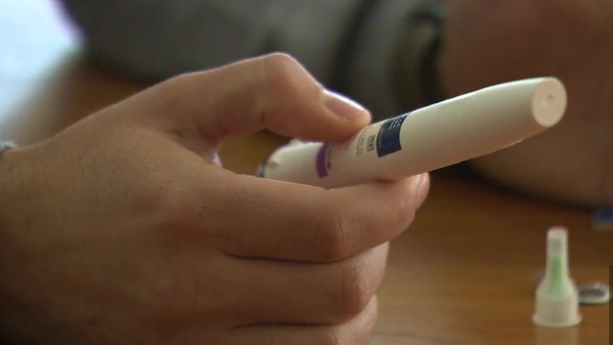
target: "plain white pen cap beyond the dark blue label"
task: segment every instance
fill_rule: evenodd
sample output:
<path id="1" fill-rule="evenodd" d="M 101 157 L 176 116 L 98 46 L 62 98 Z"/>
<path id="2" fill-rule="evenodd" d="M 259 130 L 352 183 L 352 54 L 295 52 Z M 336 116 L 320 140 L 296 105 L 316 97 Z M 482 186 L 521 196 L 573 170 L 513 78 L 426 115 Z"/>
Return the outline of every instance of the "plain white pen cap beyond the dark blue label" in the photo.
<path id="1" fill-rule="evenodd" d="M 565 87 L 551 77 L 457 96 L 406 118 L 401 133 L 405 157 L 397 155 L 396 164 L 412 175 L 487 155 L 556 125 L 565 110 Z"/>

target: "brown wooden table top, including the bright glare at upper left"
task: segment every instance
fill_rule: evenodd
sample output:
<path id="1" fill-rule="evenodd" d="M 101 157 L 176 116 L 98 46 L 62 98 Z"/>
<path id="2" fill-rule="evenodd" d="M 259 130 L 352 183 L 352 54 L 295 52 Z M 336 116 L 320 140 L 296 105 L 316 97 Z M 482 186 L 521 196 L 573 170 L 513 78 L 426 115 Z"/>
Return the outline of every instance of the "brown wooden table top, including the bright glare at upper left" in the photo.
<path id="1" fill-rule="evenodd" d="M 58 16 L 50 1 L 0 0 L 2 139 L 41 141 L 146 86 L 89 63 Z M 267 133 L 233 138 L 221 157 L 252 174 L 282 143 Z M 371 344 L 606 344 L 608 305 L 582 306 L 578 327 L 531 323 L 550 226 L 569 228 L 577 283 L 608 281 L 613 232 L 593 231 L 591 220 L 590 211 L 433 174 L 413 225 L 392 242 Z"/>

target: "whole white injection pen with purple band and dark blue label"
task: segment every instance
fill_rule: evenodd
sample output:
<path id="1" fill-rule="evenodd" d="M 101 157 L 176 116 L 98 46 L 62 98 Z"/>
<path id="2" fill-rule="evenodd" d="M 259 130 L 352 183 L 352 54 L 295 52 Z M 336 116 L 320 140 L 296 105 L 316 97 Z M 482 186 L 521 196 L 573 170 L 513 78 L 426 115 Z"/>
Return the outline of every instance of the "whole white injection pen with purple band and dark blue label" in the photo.
<path id="1" fill-rule="evenodd" d="M 345 142 L 281 147 L 258 176 L 323 188 L 403 179 L 534 136 L 565 110 L 558 79 L 501 83 L 373 123 Z"/>

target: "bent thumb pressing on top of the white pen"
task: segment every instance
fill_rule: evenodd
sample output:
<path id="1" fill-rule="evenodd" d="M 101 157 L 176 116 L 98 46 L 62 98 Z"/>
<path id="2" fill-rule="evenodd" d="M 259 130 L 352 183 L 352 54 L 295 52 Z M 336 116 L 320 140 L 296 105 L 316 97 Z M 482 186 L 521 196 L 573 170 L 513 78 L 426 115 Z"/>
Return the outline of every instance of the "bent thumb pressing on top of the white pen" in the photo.
<path id="1" fill-rule="evenodd" d="M 275 53 L 185 74 L 145 91 L 144 104 L 172 133 L 199 133 L 213 144 L 267 129 L 313 141 L 340 141 L 368 125 L 370 114 L 325 90 L 297 61 Z M 194 126 L 197 131 L 194 131 Z"/>

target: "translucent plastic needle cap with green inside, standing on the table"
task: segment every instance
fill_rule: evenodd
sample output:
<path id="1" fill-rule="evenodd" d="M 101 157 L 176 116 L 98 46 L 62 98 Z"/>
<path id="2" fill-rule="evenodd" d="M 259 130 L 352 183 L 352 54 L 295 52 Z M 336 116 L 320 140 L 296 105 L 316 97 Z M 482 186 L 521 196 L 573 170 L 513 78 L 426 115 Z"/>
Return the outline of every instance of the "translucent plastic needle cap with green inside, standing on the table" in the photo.
<path id="1" fill-rule="evenodd" d="M 568 231 L 552 227 L 547 231 L 547 267 L 536 289 L 535 324 L 569 327 L 581 322 L 579 294 L 568 270 Z"/>

